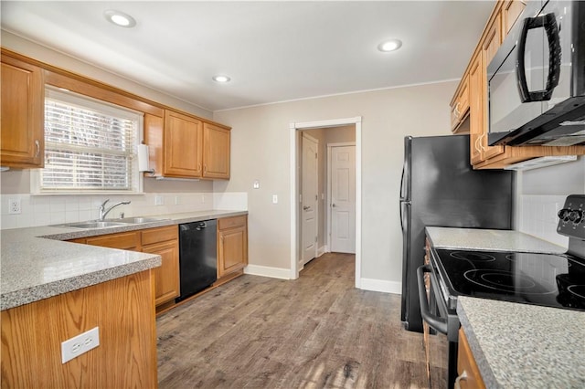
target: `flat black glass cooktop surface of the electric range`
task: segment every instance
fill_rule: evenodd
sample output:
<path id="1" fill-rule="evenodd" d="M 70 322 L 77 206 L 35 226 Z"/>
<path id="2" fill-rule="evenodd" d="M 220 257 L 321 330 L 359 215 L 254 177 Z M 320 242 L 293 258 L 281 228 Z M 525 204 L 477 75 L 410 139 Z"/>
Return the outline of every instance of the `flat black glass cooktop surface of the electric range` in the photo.
<path id="1" fill-rule="evenodd" d="M 585 260 L 566 254 L 436 250 L 447 292 L 585 310 Z"/>

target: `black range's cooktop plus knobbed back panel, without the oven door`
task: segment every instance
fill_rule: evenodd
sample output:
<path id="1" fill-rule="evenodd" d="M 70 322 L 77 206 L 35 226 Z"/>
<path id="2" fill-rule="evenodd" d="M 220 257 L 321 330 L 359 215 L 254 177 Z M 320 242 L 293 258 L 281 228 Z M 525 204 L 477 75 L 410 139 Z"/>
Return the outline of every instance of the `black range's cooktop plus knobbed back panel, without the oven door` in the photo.
<path id="1" fill-rule="evenodd" d="M 434 250 L 447 309 L 471 296 L 585 310 L 585 195 L 569 195 L 558 216 L 558 233 L 569 237 L 563 254 Z"/>

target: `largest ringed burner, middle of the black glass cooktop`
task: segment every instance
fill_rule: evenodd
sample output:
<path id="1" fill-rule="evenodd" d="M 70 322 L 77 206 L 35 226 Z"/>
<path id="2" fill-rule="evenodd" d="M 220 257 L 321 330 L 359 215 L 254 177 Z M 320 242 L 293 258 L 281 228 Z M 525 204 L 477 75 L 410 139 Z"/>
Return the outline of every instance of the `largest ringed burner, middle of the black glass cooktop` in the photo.
<path id="1" fill-rule="evenodd" d="M 538 288 L 536 282 L 526 276 L 514 274 L 505 270 L 473 269 L 467 270 L 463 276 L 465 279 L 484 288 L 502 290 L 506 292 L 519 292 L 524 294 L 546 294 L 556 291 L 547 291 Z"/>

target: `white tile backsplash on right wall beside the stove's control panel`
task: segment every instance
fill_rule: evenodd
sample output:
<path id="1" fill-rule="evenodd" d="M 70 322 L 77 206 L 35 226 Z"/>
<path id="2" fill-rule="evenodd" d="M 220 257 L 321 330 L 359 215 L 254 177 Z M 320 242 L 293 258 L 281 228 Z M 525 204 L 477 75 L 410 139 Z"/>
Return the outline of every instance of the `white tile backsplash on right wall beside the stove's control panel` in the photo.
<path id="1" fill-rule="evenodd" d="M 558 211 L 567 195 L 520 195 L 517 212 L 518 230 L 558 246 L 569 247 L 569 237 L 557 233 Z"/>

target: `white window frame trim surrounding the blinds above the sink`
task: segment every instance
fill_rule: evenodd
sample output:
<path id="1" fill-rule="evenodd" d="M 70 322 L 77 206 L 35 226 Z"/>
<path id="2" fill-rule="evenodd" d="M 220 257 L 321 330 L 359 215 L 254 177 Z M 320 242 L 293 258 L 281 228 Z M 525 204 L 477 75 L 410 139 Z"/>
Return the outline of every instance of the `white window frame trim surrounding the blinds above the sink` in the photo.
<path id="1" fill-rule="evenodd" d="M 107 115 L 115 115 L 124 119 L 136 121 L 134 143 L 132 147 L 132 187 L 129 189 L 86 189 L 86 188 L 68 188 L 53 189 L 42 186 L 42 169 L 32 169 L 30 174 L 31 195 L 143 195 L 144 194 L 144 173 L 138 170 L 138 145 L 144 140 L 144 112 L 132 110 L 109 101 L 98 100 L 80 93 L 71 92 L 68 89 L 52 87 L 45 85 L 45 97 L 43 104 L 47 99 L 55 99 L 87 108 L 96 110 Z M 44 106 L 44 105 L 43 105 Z M 45 109 L 43 108 L 43 114 Z M 47 145 L 45 145 L 47 149 Z"/>

